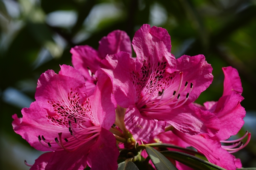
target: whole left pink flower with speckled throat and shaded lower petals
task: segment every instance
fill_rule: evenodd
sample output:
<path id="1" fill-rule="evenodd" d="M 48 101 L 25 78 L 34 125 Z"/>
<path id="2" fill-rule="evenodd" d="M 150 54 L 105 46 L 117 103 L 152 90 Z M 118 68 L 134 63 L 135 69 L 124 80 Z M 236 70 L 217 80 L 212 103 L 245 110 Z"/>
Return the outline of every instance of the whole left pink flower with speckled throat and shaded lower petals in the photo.
<path id="1" fill-rule="evenodd" d="M 105 74 L 90 96 L 84 77 L 71 66 L 59 74 L 48 70 L 38 80 L 36 101 L 14 115 L 13 127 L 35 149 L 44 153 L 36 164 L 46 170 L 117 169 L 119 151 L 108 131 L 115 121 L 116 102 Z M 98 161 L 101 160 L 101 161 Z M 33 168 L 32 168 L 33 169 Z"/>

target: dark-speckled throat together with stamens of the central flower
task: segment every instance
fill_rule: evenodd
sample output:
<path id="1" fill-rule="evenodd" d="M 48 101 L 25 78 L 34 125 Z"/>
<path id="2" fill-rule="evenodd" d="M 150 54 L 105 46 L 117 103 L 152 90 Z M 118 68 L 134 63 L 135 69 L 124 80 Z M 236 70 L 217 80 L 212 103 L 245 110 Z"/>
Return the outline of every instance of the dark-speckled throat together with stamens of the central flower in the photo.
<path id="1" fill-rule="evenodd" d="M 133 72 L 131 79 L 138 96 L 136 107 L 139 111 L 171 111 L 174 108 L 180 107 L 188 100 L 189 94 L 193 89 L 193 83 L 190 83 L 189 92 L 184 92 L 189 82 L 185 81 L 184 88 L 181 89 L 181 84 L 183 84 L 183 72 L 167 73 L 166 63 L 166 61 L 163 61 L 155 64 L 154 62 L 150 62 L 150 58 L 148 58 L 148 60 L 144 60 L 143 66 L 139 72 Z M 174 83 L 174 80 L 178 80 L 174 78 L 178 76 L 177 74 L 180 75 L 178 88 L 173 89 L 172 96 L 167 97 L 168 95 L 164 94 L 166 93 L 164 89 L 168 89 L 171 84 Z M 169 90 L 170 89 L 168 89 L 168 91 Z M 181 94 L 183 97 L 181 97 Z"/>

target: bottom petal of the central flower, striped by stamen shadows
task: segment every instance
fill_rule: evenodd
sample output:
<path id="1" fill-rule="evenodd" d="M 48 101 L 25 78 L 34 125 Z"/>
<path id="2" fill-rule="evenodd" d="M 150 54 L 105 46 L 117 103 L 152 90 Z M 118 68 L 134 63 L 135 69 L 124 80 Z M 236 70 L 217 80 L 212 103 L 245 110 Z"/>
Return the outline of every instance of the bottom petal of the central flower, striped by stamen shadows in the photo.
<path id="1" fill-rule="evenodd" d="M 166 122 L 142 116 L 139 110 L 131 105 L 126 110 L 125 125 L 135 140 L 150 142 L 153 137 L 165 131 Z"/>

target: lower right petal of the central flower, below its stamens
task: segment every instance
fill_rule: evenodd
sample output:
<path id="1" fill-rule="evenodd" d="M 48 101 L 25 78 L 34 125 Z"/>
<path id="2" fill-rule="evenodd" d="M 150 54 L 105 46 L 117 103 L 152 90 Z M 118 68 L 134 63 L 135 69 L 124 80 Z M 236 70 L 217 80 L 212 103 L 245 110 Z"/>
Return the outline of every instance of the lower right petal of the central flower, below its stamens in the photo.
<path id="1" fill-rule="evenodd" d="M 196 135 L 201 133 L 213 136 L 220 126 L 219 119 L 209 111 L 203 111 L 193 104 L 183 105 L 169 112 L 148 113 L 148 117 L 166 121 L 179 131 Z"/>

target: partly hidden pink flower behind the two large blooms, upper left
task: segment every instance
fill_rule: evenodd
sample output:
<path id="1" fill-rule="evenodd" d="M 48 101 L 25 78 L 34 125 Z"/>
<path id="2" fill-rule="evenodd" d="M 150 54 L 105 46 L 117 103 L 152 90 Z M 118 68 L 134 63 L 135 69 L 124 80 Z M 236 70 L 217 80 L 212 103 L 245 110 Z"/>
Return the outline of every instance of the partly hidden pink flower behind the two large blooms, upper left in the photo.
<path id="1" fill-rule="evenodd" d="M 96 71 L 100 68 L 99 64 L 101 60 L 105 59 L 107 54 L 116 54 L 119 51 L 125 51 L 132 56 L 131 40 L 121 30 L 115 30 L 103 37 L 99 41 L 98 51 L 88 45 L 71 48 L 72 64 L 75 69 L 81 72 L 87 81 L 87 93 L 96 86 L 98 80 Z"/>

